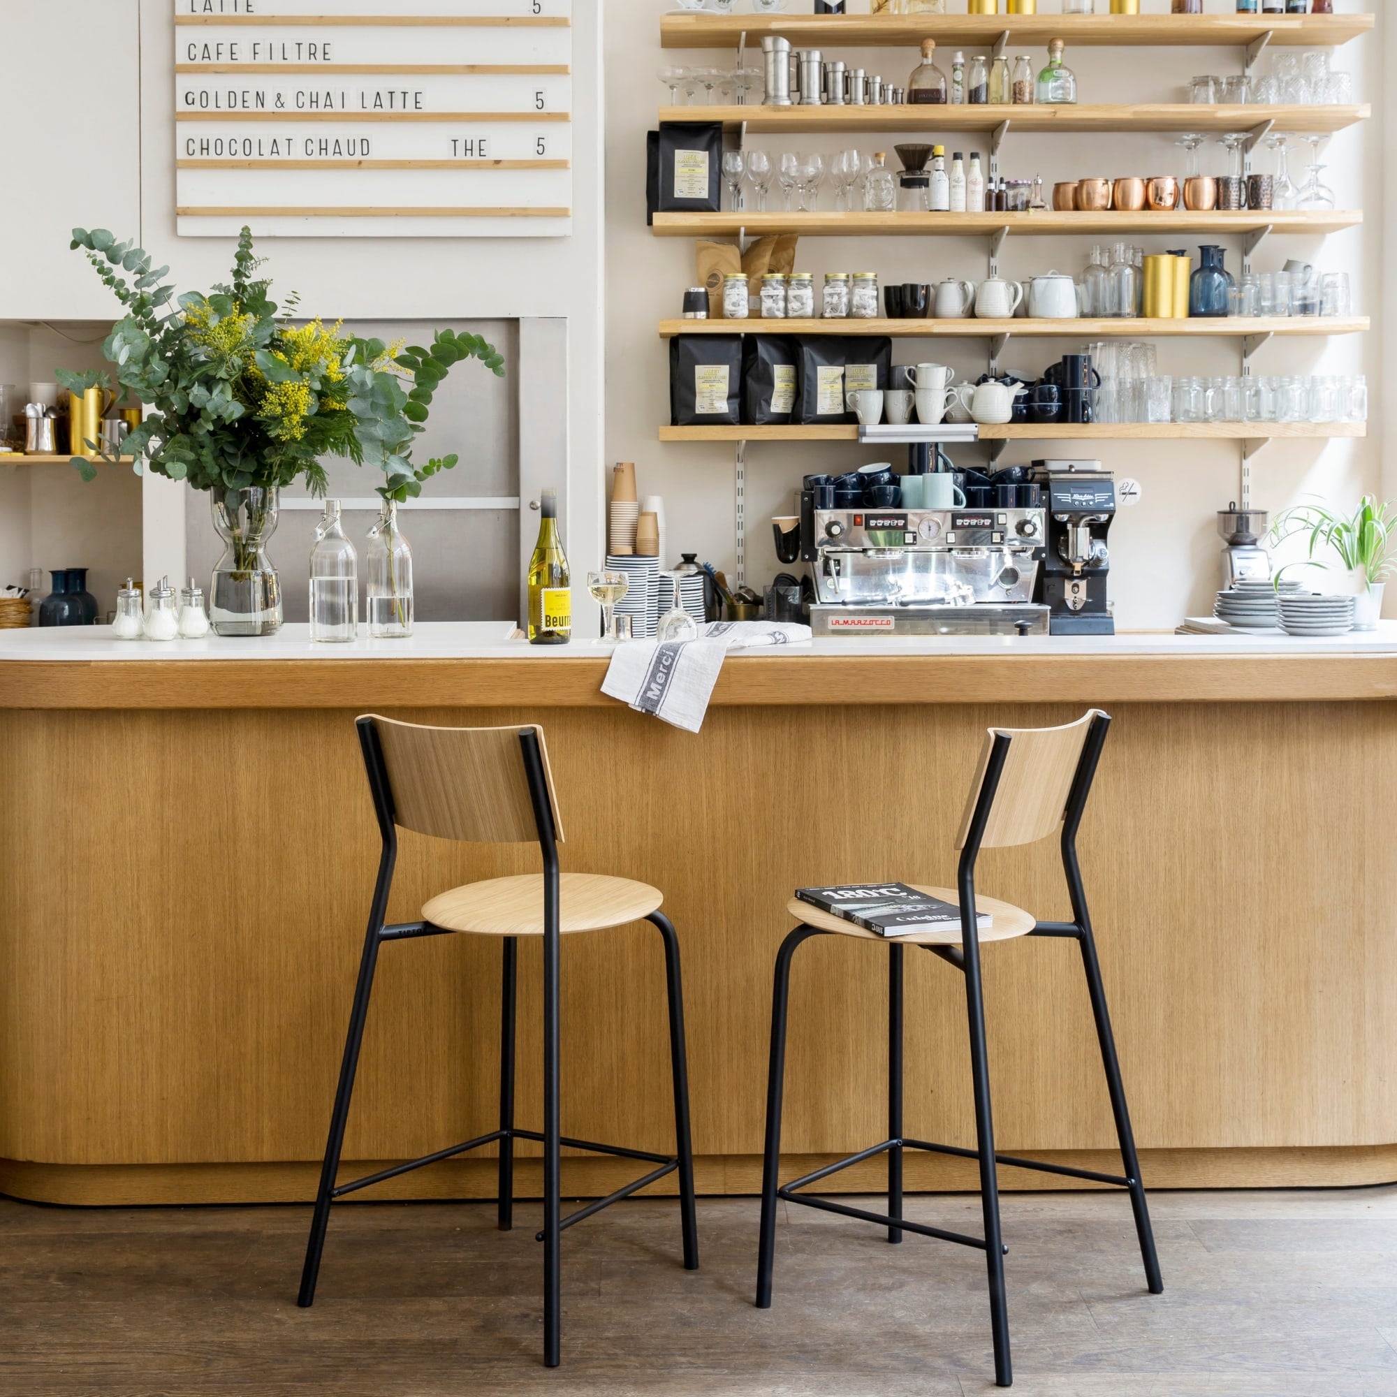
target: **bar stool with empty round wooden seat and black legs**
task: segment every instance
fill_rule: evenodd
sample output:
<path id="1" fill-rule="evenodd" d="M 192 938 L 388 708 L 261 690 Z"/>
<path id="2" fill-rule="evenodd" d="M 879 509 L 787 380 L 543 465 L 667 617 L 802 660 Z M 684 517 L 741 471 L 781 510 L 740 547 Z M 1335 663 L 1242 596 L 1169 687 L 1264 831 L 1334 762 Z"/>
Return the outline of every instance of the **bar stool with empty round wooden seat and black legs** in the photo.
<path id="1" fill-rule="evenodd" d="M 563 840 L 563 828 L 541 728 L 420 728 L 372 715 L 359 718 L 358 728 L 369 773 L 369 789 L 379 816 L 383 854 L 359 963 L 359 981 L 349 1016 L 339 1085 L 330 1118 L 330 1139 L 326 1144 L 310 1241 L 306 1246 L 299 1303 L 307 1306 L 314 1301 L 330 1204 L 335 1199 L 425 1164 L 499 1143 L 499 1225 L 502 1231 L 507 1231 L 513 1225 L 513 1143 L 534 1140 L 543 1146 L 543 1229 L 538 1234 L 538 1241 L 543 1243 L 543 1362 L 549 1368 L 556 1368 L 560 1361 L 560 1238 L 566 1228 L 678 1171 L 685 1268 L 692 1271 L 698 1266 L 679 942 L 669 919 L 659 911 L 664 898 L 655 888 L 623 877 L 559 872 L 557 844 Z M 422 908 L 422 921 L 388 926 L 386 916 L 398 852 L 398 827 L 472 844 L 536 841 L 543 855 L 543 872 L 468 883 L 432 898 Z M 665 943 L 669 1052 L 675 1094 L 673 1155 L 594 1144 L 560 1134 L 560 937 L 641 919 L 654 923 Z M 339 1151 L 344 1146 L 345 1122 L 349 1116 L 349 1098 L 353 1092 L 379 947 L 386 942 L 453 932 L 495 936 L 503 946 L 499 1129 L 367 1178 L 337 1183 Z M 521 1130 L 514 1125 L 514 1000 L 517 946 L 521 936 L 536 936 L 543 942 L 542 1132 Z M 633 1183 L 563 1218 L 559 1204 L 562 1146 L 640 1160 L 654 1168 Z"/>

